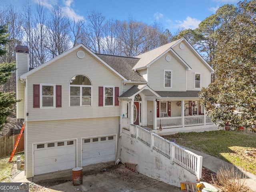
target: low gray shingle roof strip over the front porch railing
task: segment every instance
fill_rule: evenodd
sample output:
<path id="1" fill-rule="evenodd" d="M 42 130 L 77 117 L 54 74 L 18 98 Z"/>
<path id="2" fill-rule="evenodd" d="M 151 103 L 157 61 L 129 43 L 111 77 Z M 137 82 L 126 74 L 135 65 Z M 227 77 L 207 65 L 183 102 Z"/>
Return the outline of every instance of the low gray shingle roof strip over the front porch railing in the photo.
<path id="1" fill-rule="evenodd" d="M 156 91 L 161 97 L 198 98 L 199 91 Z"/>

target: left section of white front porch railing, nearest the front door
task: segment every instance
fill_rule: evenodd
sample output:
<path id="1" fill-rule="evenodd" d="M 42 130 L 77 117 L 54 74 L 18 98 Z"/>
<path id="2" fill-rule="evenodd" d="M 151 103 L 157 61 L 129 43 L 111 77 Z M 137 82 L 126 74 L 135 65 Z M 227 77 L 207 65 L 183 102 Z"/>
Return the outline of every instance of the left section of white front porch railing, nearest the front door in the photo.
<path id="1" fill-rule="evenodd" d="M 182 117 L 161 117 L 156 119 L 156 126 L 164 128 L 182 127 Z"/>

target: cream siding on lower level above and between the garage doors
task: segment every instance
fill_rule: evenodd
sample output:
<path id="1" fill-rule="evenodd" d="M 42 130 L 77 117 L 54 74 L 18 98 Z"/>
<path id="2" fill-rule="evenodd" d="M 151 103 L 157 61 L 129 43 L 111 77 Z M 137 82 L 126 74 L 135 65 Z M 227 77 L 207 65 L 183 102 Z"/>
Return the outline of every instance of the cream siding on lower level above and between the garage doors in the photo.
<path id="1" fill-rule="evenodd" d="M 34 144 L 77 140 L 76 166 L 82 166 L 82 138 L 118 135 L 120 117 L 27 122 L 27 177 L 32 177 Z M 72 130 L 72 131 L 71 131 Z"/>

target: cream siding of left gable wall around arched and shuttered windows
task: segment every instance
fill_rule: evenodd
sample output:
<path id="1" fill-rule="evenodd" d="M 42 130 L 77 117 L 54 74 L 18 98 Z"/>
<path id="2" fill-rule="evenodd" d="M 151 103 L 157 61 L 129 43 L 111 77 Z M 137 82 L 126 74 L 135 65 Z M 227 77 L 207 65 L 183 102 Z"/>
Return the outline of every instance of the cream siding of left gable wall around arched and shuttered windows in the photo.
<path id="1" fill-rule="evenodd" d="M 83 59 L 78 58 L 76 52 L 71 52 L 28 76 L 28 101 L 33 101 L 33 84 L 48 83 L 62 86 L 62 107 L 40 110 L 33 108 L 33 102 L 28 102 L 28 121 L 120 116 L 119 106 L 106 108 L 98 106 L 98 87 L 108 85 L 119 87 L 119 95 L 121 95 L 122 80 L 86 52 Z M 91 106 L 69 107 L 69 83 L 77 74 L 87 76 L 92 82 Z"/>

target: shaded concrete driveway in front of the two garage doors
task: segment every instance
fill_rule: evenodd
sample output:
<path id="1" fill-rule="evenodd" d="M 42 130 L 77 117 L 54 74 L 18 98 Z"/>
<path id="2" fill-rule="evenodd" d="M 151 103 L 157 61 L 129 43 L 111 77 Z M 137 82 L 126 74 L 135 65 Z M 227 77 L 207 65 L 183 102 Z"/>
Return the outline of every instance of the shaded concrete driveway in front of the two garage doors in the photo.
<path id="1" fill-rule="evenodd" d="M 47 188 L 45 192 L 180 192 L 175 187 L 152 178 L 136 174 L 123 166 L 100 164 L 83 168 L 82 184 L 74 186 L 72 170 L 44 174 L 28 179 Z"/>

